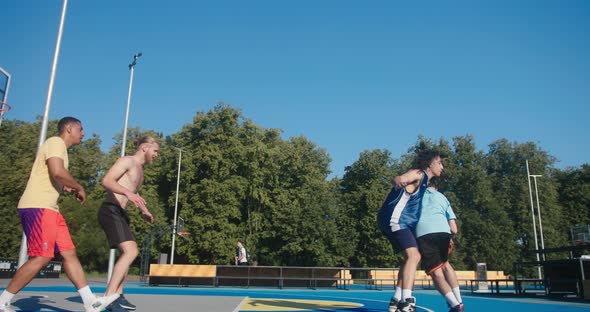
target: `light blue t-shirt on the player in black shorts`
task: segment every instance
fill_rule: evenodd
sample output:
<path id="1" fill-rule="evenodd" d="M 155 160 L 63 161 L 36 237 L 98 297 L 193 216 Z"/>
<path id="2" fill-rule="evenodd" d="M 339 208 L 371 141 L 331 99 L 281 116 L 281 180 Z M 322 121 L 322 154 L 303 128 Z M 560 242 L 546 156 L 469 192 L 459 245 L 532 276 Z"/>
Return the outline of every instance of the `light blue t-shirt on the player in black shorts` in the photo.
<path id="1" fill-rule="evenodd" d="M 451 203 L 440 192 L 428 188 L 422 198 L 422 214 L 416 225 L 416 237 L 430 233 L 451 233 L 449 220 L 457 219 Z"/>

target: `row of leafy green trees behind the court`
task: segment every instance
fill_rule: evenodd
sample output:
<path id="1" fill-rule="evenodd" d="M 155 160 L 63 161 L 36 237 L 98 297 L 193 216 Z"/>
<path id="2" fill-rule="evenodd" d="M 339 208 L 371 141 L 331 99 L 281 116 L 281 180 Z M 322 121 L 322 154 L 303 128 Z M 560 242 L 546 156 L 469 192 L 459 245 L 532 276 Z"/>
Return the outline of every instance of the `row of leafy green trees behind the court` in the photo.
<path id="1" fill-rule="evenodd" d="M 40 124 L 4 120 L 0 129 L 0 258 L 18 257 L 22 230 L 16 206 Z M 56 124 L 50 122 L 49 135 L 57 134 Z M 138 209 L 130 209 L 140 245 L 154 227 L 172 224 L 178 169 L 173 147 L 186 151 L 178 214 L 190 235 L 176 239 L 177 264 L 231 264 L 241 239 L 259 265 L 396 267 L 401 257 L 377 229 L 376 214 L 392 177 L 409 169 L 423 148 L 447 155 L 440 190 L 459 217 L 451 255 L 457 269 L 473 270 L 485 262 L 490 270 L 510 272 L 513 262 L 533 259 L 521 253 L 534 249 L 526 160 L 531 172 L 543 176 L 538 194 L 545 247 L 570 245 L 571 227 L 590 224 L 590 166 L 558 169 L 555 157 L 532 142 L 498 139 L 481 151 L 470 135 L 451 140 L 418 136 L 400 158 L 385 149 L 362 151 L 342 177 L 330 179 L 328 151 L 304 136 L 284 139 L 279 129 L 260 127 L 223 103 L 197 112 L 192 123 L 165 138 L 140 128 L 129 129 L 128 135 L 127 154 L 144 135 L 162 141 L 140 189 L 155 224 L 145 224 Z M 105 153 L 100 137 L 93 135 L 70 150 L 70 172 L 86 188 L 88 200 L 80 206 L 62 196 L 60 210 L 86 270 L 107 268 L 109 247 L 96 216 L 105 195 L 99 182 L 120 155 L 121 140 L 116 137 Z M 151 246 L 154 262 L 159 253 L 170 252 L 171 236 Z"/>

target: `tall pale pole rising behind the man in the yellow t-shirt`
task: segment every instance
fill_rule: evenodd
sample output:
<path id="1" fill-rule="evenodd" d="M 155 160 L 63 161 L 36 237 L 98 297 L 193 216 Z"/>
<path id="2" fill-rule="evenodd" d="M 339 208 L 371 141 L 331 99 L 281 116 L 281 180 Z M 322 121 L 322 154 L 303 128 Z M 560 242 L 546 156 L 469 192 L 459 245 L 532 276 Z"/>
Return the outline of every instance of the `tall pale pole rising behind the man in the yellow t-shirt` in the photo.
<path id="1" fill-rule="evenodd" d="M 41 148 L 45 137 L 47 136 L 47 124 L 49 123 L 49 108 L 51 107 L 51 98 L 53 96 L 53 82 L 55 81 L 55 72 L 57 71 L 57 60 L 59 59 L 59 49 L 61 47 L 61 36 L 64 29 L 64 22 L 66 19 L 66 10 L 68 8 L 68 0 L 63 0 L 61 8 L 61 18 L 59 20 L 59 30 L 57 31 L 57 41 L 55 42 L 55 51 L 53 53 L 53 65 L 51 66 L 51 74 L 49 76 L 49 88 L 47 90 L 47 97 L 45 99 L 45 112 L 43 113 L 43 122 L 41 123 L 41 133 L 39 134 L 39 144 L 37 149 Z M 18 267 L 20 268 L 27 262 L 27 236 L 23 232 L 23 237 L 20 245 L 20 252 L 18 255 Z"/>

